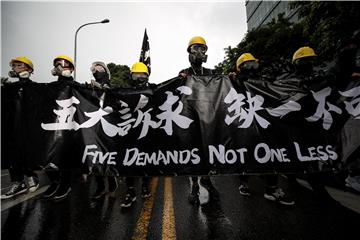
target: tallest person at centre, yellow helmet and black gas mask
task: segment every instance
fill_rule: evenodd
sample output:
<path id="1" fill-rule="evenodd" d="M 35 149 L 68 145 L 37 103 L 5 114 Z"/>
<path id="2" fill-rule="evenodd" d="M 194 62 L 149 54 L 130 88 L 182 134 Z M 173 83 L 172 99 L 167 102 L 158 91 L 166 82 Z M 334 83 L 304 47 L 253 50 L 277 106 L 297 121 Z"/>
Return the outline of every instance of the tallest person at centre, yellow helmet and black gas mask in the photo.
<path id="1" fill-rule="evenodd" d="M 195 36 L 190 39 L 187 52 L 189 53 L 189 62 L 190 67 L 183 69 L 179 72 L 179 76 L 182 78 L 186 78 L 187 76 L 192 75 L 211 75 L 213 74 L 213 70 L 204 68 L 202 66 L 203 63 L 207 60 L 207 51 L 208 47 L 206 45 L 206 41 L 203 37 Z M 210 177 L 201 177 L 200 183 L 205 188 L 212 187 L 212 183 Z M 188 200 L 191 204 L 199 204 L 199 178 L 198 177 L 190 177 L 191 191 L 188 196 Z"/>

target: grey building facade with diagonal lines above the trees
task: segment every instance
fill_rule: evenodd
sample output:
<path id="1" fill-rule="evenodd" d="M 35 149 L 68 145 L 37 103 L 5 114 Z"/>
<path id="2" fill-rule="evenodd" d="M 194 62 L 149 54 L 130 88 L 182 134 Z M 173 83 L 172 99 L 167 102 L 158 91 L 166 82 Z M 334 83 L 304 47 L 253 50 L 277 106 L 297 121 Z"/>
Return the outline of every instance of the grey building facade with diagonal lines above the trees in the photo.
<path id="1" fill-rule="evenodd" d="M 248 30 L 256 29 L 283 13 L 290 22 L 297 22 L 297 9 L 290 9 L 289 1 L 250 1 L 246 0 L 246 20 Z"/>

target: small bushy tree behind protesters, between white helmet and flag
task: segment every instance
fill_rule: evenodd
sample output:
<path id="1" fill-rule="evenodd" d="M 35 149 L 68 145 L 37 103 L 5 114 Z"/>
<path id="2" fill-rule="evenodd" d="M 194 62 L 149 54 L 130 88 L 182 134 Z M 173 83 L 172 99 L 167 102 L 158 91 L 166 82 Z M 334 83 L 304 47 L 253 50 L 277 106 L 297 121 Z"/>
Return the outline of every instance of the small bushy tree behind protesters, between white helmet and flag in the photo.
<path id="1" fill-rule="evenodd" d="M 129 87 L 130 68 L 127 65 L 107 64 L 111 73 L 110 83 L 113 87 Z"/>

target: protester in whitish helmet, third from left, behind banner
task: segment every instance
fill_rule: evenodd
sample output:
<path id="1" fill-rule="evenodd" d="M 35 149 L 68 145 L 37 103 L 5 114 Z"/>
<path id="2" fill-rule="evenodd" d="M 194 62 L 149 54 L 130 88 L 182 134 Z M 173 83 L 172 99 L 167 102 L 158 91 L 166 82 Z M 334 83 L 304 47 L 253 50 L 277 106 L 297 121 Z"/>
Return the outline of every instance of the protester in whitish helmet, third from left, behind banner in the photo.
<path id="1" fill-rule="evenodd" d="M 91 85 L 98 89 L 109 89 L 111 87 L 110 84 L 110 70 L 106 66 L 104 62 L 93 62 L 90 68 L 95 80 L 91 80 Z M 101 96 L 102 97 L 102 96 Z M 91 173 L 91 169 L 88 173 Z M 105 180 L 107 180 L 108 185 L 108 193 L 115 193 L 118 188 L 117 178 L 115 176 L 96 176 L 96 190 L 94 195 L 92 196 L 94 199 L 101 198 L 104 196 L 107 191 L 105 188 Z"/>

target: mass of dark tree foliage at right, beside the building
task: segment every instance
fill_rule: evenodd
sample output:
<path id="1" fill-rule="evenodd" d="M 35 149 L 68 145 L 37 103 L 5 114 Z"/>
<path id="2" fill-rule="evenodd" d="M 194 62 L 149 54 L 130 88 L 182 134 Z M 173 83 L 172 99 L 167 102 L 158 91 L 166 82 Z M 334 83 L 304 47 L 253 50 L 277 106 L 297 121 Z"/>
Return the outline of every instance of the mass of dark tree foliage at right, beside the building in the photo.
<path id="1" fill-rule="evenodd" d="M 319 59 L 334 58 L 338 41 L 350 37 L 360 28 L 360 2 L 291 2 L 301 20 L 290 23 L 283 17 L 248 31 L 235 47 L 225 48 L 225 60 L 215 66 L 225 74 L 235 70 L 237 58 L 245 52 L 260 59 L 260 65 L 281 71 L 289 66 L 293 53 L 302 46 L 314 48 Z M 284 66 L 285 63 L 285 66 Z M 275 67 L 274 67 L 275 66 Z"/>

